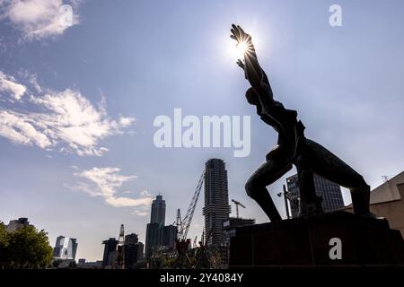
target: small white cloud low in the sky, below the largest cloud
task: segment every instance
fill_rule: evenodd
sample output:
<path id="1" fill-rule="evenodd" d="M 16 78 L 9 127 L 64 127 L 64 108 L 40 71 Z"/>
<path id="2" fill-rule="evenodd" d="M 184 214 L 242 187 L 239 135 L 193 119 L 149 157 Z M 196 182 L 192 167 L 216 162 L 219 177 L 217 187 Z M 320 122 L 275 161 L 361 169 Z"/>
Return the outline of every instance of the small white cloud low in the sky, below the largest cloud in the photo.
<path id="1" fill-rule="evenodd" d="M 91 184 L 80 182 L 75 190 L 83 191 L 90 196 L 102 196 L 106 204 L 110 204 L 114 207 L 145 207 L 152 204 L 153 198 L 141 193 L 140 198 L 131 198 L 127 196 L 117 196 L 119 192 L 117 189 L 123 185 L 123 183 L 136 178 L 136 176 L 124 176 L 119 174 L 118 168 L 92 168 L 91 170 L 83 170 L 75 173 L 75 176 L 85 178 L 91 182 Z M 142 211 L 135 211 L 137 215 L 144 215 Z"/>

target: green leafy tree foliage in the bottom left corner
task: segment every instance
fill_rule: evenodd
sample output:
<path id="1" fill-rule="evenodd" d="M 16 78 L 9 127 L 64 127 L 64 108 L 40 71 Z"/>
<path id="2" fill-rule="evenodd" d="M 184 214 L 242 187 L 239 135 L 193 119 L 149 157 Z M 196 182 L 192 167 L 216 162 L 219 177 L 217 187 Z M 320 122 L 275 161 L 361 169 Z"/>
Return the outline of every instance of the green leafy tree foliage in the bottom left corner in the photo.
<path id="1" fill-rule="evenodd" d="M 0 223 L 0 268 L 45 268 L 52 260 L 48 234 L 34 226 L 7 232 Z"/>

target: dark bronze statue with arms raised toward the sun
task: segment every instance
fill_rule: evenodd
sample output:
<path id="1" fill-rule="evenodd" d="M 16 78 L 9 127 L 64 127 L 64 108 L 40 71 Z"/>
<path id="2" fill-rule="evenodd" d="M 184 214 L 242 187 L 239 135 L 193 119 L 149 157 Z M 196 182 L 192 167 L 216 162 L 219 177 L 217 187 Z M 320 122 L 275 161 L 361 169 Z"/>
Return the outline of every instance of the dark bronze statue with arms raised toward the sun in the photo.
<path id="1" fill-rule="evenodd" d="M 268 76 L 259 66 L 250 35 L 240 26 L 233 24 L 232 27 L 230 37 L 237 41 L 237 45 L 247 45 L 244 62 L 241 59 L 237 61 L 251 85 L 246 91 L 247 101 L 256 106 L 259 117 L 278 134 L 277 146 L 247 181 L 247 194 L 267 213 L 271 222 L 280 221 L 281 216 L 267 187 L 291 170 L 294 164 L 299 178 L 301 216 L 323 213 L 321 198 L 314 189 L 313 173 L 349 188 L 354 213 L 373 216 L 369 212 L 370 187 L 364 178 L 321 144 L 305 138 L 304 126 L 297 120 L 297 112 L 285 109 L 282 103 L 274 100 Z"/>

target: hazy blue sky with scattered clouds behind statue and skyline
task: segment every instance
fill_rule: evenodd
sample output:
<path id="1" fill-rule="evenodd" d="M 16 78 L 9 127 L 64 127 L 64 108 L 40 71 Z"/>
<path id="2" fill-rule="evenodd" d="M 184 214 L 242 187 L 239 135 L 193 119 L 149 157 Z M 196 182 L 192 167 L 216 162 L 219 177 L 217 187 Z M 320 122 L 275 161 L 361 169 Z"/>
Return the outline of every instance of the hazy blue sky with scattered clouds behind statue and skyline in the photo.
<path id="1" fill-rule="evenodd" d="M 73 25 L 57 26 L 60 5 Z M 329 26 L 329 6 L 342 26 Z M 28 217 L 102 256 L 119 224 L 145 241 L 151 196 L 166 223 L 185 214 L 204 162 L 224 159 L 242 216 L 267 219 L 244 183 L 276 143 L 244 98 L 228 51 L 231 24 L 250 32 L 277 100 L 306 135 L 372 187 L 403 170 L 404 27 L 400 1 L 0 1 L 0 220 Z M 232 148 L 157 149 L 154 118 L 251 116 L 250 156 Z M 290 176 L 294 170 L 285 176 Z M 284 213 L 285 177 L 271 195 Z M 349 196 L 345 195 L 346 203 Z M 190 237 L 200 236 L 201 203 Z M 234 210 L 234 207 L 233 207 Z"/>

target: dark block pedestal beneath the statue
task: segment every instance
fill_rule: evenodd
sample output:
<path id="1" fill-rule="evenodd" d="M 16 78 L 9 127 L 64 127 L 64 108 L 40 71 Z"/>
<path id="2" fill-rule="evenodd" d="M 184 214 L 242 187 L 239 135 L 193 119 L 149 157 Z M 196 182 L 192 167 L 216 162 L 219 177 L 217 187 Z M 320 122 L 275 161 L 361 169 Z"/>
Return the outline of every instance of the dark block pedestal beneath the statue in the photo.
<path id="1" fill-rule="evenodd" d="M 230 268 L 404 265 L 404 240 L 385 219 L 346 212 L 237 228 Z"/>

